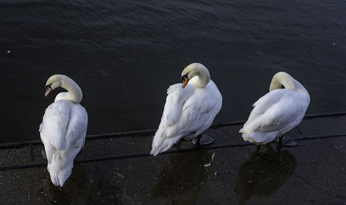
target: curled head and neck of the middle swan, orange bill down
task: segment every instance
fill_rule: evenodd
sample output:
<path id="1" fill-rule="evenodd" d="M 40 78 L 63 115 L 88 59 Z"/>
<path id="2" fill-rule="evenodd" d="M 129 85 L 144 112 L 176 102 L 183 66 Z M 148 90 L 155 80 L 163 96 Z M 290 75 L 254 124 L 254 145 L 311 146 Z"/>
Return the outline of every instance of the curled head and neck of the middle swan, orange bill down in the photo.
<path id="1" fill-rule="evenodd" d="M 192 63 L 183 70 L 181 73 L 181 80 L 183 80 L 183 88 L 188 84 L 188 82 L 198 76 L 199 79 L 193 82 L 195 87 L 206 87 L 210 81 L 210 74 L 206 66 L 198 62 Z"/>

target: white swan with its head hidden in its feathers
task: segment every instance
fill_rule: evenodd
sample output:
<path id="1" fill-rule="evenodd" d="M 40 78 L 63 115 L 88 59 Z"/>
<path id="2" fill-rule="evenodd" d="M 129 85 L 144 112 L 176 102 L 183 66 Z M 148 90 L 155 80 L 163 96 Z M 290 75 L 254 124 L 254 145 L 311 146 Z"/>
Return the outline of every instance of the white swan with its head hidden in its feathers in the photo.
<path id="1" fill-rule="evenodd" d="M 285 89 L 281 89 L 282 85 Z M 270 143 L 302 121 L 309 103 L 309 93 L 300 82 L 287 73 L 276 73 L 269 92 L 253 104 L 253 111 L 239 132 L 244 141 Z"/>

